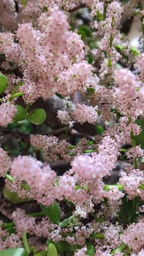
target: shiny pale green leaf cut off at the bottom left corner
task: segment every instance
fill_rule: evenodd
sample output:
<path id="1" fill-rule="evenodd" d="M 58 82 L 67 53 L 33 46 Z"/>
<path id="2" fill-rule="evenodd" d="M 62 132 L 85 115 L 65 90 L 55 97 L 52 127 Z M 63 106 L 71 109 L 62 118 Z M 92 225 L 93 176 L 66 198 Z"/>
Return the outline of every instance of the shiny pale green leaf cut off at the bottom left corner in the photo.
<path id="1" fill-rule="evenodd" d="M 24 248 L 12 248 L 5 249 L 4 251 L 0 251 L 1 256 L 29 256 L 29 253 L 26 252 Z"/>

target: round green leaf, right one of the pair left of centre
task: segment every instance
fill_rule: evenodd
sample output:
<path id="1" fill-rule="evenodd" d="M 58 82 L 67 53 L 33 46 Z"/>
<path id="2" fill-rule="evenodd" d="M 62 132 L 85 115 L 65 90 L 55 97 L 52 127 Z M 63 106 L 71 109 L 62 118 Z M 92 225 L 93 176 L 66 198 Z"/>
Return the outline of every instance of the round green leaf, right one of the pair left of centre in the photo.
<path id="1" fill-rule="evenodd" d="M 47 115 L 43 108 L 37 108 L 28 114 L 28 119 L 32 124 L 43 124 L 46 116 Z"/>

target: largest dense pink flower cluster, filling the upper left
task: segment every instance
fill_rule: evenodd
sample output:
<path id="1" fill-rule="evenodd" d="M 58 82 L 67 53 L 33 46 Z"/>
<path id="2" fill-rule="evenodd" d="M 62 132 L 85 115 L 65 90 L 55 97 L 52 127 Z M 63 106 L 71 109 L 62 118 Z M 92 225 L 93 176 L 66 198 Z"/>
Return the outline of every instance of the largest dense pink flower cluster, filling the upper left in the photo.
<path id="1" fill-rule="evenodd" d="M 31 23 L 18 27 L 21 54 L 26 62 L 25 83 L 20 91 L 26 102 L 34 102 L 38 97 L 47 99 L 55 93 L 73 94 L 92 76 L 91 65 L 84 61 L 83 41 L 69 31 L 64 12 L 53 12 L 46 23 L 43 31 L 34 29 Z"/>

